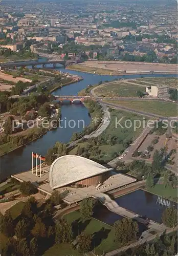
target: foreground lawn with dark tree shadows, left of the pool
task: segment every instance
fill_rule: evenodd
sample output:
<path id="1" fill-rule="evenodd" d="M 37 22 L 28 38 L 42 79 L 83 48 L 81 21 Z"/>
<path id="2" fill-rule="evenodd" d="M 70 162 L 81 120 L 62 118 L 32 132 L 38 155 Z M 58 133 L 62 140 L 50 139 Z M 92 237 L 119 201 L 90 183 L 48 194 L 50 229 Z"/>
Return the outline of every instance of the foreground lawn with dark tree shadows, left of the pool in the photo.
<path id="1" fill-rule="evenodd" d="M 76 230 L 76 236 L 81 231 L 92 234 L 92 248 L 95 254 L 101 255 L 104 252 L 108 252 L 119 248 L 119 244 L 116 243 L 114 236 L 114 229 L 99 220 L 92 218 L 90 221 L 83 222 L 80 219 L 79 211 L 71 212 L 64 216 L 64 219 L 73 225 Z"/>

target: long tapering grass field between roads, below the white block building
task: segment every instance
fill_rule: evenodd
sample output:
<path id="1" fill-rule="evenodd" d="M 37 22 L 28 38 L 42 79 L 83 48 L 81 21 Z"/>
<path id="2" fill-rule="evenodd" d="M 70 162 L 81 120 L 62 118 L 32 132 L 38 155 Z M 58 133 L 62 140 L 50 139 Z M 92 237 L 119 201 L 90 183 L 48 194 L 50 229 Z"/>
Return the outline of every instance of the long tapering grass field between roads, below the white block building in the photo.
<path id="1" fill-rule="evenodd" d="M 177 105 L 171 102 L 161 101 L 112 101 L 107 100 L 105 102 L 111 102 L 117 105 L 126 106 L 127 108 L 140 110 L 147 113 L 153 113 L 165 117 L 171 117 L 177 115 Z"/>

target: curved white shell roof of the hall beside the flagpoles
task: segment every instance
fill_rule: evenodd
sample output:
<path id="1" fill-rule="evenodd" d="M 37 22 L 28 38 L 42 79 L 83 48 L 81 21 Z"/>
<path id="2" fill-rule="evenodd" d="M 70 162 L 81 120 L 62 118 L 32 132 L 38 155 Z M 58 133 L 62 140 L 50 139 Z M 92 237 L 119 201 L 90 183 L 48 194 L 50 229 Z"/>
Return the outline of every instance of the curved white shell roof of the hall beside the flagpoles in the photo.
<path id="1" fill-rule="evenodd" d="M 50 186 L 53 189 L 66 186 L 108 170 L 103 165 L 84 157 L 61 156 L 50 167 Z"/>

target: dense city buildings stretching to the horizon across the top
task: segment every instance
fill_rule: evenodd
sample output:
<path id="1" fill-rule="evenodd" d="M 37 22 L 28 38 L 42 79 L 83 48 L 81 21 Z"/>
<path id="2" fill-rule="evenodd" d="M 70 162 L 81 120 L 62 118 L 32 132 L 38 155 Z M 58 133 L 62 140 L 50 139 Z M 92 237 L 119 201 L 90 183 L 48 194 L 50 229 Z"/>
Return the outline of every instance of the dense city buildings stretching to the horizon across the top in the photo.
<path id="1" fill-rule="evenodd" d="M 28 2 L 19 2 L 20 9 L 10 3 L 2 4 L 2 45 L 7 45 L 7 40 L 10 44 L 37 42 L 36 50 L 62 58 L 63 54 L 79 54 L 85 58 L 176 62 L 175 1 L 135 5 L 34 1 L 30 13 Z"/>

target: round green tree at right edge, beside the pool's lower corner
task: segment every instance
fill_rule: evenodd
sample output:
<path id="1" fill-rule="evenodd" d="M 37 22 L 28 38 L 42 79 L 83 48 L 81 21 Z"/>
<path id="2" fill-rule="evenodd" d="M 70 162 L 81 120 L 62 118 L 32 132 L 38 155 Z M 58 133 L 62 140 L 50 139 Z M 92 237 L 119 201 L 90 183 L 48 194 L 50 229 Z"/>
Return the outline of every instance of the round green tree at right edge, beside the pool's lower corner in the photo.
<path id="1" fill-rule="evenodd" d="M 162 221 L 167 227 L 174 228 L 177 225 L 177 209 L 166 208 L 162 215 Z"/>

